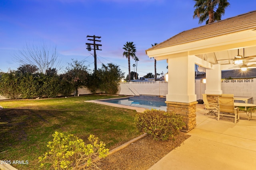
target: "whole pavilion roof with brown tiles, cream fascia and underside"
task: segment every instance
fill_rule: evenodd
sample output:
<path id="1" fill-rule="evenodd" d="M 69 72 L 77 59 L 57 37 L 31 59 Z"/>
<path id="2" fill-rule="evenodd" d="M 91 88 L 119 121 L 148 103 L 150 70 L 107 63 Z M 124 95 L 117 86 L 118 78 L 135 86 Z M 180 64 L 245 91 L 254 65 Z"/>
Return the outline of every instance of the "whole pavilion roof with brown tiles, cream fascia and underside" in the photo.
<path id="1" fill-rule="evenodd" d="M 242 56 L 256 56 L 256 11 L 183 31 L 146 50 L 146 54 L 162 60 L 185 52 L 211 64 L 226 64 L 222 70 L 228 70 L 238 49 Z M 256 58 L 246 60 L 252 62 Z"/>

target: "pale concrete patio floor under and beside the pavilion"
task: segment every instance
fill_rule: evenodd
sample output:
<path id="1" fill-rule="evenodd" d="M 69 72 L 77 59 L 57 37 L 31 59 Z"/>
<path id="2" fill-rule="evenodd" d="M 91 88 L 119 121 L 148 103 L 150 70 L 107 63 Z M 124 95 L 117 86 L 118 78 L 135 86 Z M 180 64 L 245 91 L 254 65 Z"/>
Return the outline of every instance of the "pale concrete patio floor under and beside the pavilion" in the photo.
<path id="1" fill-rule="evenodd" d="M 234 124 L 207 112 L 197 104 L 191 137 L 148 170 L 256 170 L 256 119 L 240 112 Z"/>

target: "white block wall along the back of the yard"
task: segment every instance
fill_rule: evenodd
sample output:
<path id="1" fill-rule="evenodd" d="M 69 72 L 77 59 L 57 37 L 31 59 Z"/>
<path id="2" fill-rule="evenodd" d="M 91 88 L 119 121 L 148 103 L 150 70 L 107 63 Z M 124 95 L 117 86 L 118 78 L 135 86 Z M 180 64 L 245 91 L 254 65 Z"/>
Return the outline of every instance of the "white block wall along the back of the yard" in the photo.
<path id="1" fill-rule="evenodd" d="M 234 96 L 252 96 L 253 100 L 256 100 L 256 78 L 222 80 L 221 88 L 223 94 L 234 94 Z M 204 84 L 202 80 L 195 80 L 195 94 L 197 100 L 202 99 L 202 94 L 204 94 L 205 90 L 206 84 Z M 78 89 L 78 94 L 82 95 L 92 93 L 87 88 L 80 88 Z M 128 96 L 140 94 L 166 96 L 166 94 L 168 94 L 168 82 L 122 82 L 118 87 L 118 94 Z M 0 96 L 0 100 L 5 99 L 8 98 Z M 256 103 L 256 101 L 254 101 L 254 103 Z"/>

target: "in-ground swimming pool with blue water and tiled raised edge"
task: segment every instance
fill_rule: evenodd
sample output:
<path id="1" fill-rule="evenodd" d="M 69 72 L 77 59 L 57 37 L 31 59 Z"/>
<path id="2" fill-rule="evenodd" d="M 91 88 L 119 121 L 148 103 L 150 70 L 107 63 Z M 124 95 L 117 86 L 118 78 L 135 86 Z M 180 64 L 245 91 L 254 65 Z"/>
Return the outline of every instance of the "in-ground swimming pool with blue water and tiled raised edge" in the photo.
<path id="1" fill-rule="evenodd" d="M 143 107 L 146 109 L 160 109 L 166 111 L 166 98 L 158 96 L 130 96 L 127 98 L 116 98 L 101 100 L 102 102 L 109 102 L 114 104 Z"/>

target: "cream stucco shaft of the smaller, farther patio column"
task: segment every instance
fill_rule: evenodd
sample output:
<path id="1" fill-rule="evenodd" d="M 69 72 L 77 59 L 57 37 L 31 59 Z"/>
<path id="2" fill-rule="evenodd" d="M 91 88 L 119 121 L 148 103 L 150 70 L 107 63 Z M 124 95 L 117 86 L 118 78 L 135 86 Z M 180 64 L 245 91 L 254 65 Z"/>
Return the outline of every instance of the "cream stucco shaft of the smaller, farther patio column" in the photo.
<path id="1" fill-rule="evenodd" d="M 220 64 L 214 64 L 213 69 L 206 69 L 205 94 L 222 94 Z"/>

